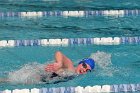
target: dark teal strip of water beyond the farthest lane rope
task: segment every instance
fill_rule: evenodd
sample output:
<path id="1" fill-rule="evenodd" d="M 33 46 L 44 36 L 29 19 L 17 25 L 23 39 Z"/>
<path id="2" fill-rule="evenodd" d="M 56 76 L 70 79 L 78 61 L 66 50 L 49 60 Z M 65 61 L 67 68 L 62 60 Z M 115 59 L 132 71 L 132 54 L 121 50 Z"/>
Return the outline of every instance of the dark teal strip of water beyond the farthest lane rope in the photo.
<path id="1" fill-rule="evenodd" d="M 139 9 L 139 0 L 0 0 L 0 11 Z"/>

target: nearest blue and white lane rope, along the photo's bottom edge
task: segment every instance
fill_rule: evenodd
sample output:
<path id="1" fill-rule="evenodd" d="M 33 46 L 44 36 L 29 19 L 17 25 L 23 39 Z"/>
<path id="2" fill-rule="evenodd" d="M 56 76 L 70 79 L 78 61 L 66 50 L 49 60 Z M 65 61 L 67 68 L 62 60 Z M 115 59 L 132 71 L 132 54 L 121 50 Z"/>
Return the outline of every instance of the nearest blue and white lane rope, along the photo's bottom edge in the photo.
<path id="1" fill-rule="evenodd" d="M 4 90 L 0 93 L 114 93 L 114 92 L 139 92 L 140 84 L 95 85 L 86 87 L 58 87 L 58 88 L 33 88 Z"/>

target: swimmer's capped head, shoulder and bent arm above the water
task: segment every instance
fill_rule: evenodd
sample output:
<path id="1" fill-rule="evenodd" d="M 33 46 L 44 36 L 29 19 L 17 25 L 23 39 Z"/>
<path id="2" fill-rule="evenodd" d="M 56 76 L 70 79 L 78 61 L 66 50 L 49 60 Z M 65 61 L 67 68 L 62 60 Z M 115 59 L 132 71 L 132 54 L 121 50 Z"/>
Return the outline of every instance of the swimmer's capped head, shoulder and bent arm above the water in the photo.
<path id="1" fill-rule="evenodd" d="M 61 75 L 64 70 L 68 70 L 77 74 L 86 74 L 87 72 L 93 70 L 95 67 L 95 62 L 91 58 L 85 58 L 81 60 L 77 67 L 74 67 L 73 62 L 66 57 L 60 51 L 55 53 L 55 62 L 48 64 L 45 67 L 46 72 L 52 72 L 56 75 Z"/>

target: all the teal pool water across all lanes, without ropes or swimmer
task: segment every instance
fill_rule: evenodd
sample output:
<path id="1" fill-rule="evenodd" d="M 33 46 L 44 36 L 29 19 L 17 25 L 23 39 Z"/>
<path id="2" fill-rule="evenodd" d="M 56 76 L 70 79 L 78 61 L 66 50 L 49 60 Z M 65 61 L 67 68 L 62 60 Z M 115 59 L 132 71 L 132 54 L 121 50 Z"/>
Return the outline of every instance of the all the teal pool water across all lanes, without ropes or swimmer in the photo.
<path id="1" fill-rule="evenodd" d="M 131 10 L 139 9 L 139 4 L 138 0 L 0 0 L 0 11 Z M 139 25 L 139 15 L 0 17 L 0 40 L 135 37 L 140 36 Z M 31 64 L 51 63 L 56 51 L 62 51 L 74 62 L 75 66 L 79 60 L 92 57 L 96 61 L 96 68 L 91 73 L 80 75 L 67 82 L 0 83 L 0 90 L 139 83 L 139 50 L 139 44 L 1 47 L 0 78 L 10 77 L 10 72 L 19 71 L 26 66 L 32 66 Z M 21 73 L 21 75 L 26 75 L 26 73 Z"/>

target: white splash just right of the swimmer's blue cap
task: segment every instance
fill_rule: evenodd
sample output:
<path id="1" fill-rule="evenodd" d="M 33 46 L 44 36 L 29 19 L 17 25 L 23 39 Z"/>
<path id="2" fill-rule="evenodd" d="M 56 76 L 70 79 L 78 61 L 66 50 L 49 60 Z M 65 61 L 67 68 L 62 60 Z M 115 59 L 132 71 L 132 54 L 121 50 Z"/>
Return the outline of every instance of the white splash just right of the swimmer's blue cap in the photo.
<path id="1" fill-rule="evenodd" d="M 99 67 L 97 70 L 97 76 L 113 76 L 114 73 L 119 70 L 116 67 L 112 66 L 111 54 L 101 51 L 92 53 L 90 58 L 93 58 L 96 63 L 96 67 Z"/>

